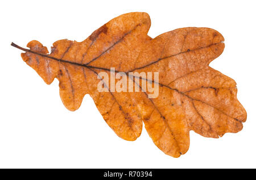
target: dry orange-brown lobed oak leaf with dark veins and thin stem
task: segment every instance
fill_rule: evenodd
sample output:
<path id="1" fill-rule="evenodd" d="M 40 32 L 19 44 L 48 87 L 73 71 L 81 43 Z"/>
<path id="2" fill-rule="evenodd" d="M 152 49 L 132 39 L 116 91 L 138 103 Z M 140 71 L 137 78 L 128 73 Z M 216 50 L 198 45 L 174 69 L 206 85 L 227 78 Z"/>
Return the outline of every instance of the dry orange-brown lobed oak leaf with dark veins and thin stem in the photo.
<path id="1" fill-rule="evenodd" d="M 90 94 L 122 139 L 137 139 L 144 122 L 155 145 L 179 157 L 189 148 L 190 130 L 214 138 L 241 131 L 246 111 L 237 100 L 236 82 L 209 67 L 224 49 L 224 37 L 210 28 L 188 27 L 152 39 L 150 25 L 148 14 L 132 12 L 110 20 L 82 42 L 56 41 L 51 53 L 35 40 L 27 44 L 30 49 L 11 45 L 26 51 L 23 60 L 47 84 L 59 79 L 68 110 L 77 110 Z M 158 72 L 159 80 L 140 78 L 140 92 L 99 92 L 99 73 L 109 74 L 110 68 L 126 74 Z M 159 85 L 157 98 L 148 98 L 143 81 Z"/>

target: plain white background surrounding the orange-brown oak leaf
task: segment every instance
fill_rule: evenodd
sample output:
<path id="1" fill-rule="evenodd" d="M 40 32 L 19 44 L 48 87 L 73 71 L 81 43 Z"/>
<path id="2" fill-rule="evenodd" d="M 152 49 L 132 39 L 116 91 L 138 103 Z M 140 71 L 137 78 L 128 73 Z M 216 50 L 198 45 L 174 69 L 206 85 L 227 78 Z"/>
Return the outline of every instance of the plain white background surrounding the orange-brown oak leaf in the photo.
<path id="1" fill-rule="evenodd" d="M 255 1 L 1 1 L 0 168 L 256 168 Z M 86 95 L 68 111 L 59 82 L 46 85 L 11 42 L 82 41 L 115 16 L 143 11 L 148 35 L 181 27 L 210 27 L 225 37 L 225 50 L 210 66 L 237 82 L 247 111 L 241 132 L 220 139 L 190 133 L 188 152 L 173 158 L 146 130 L 136 141 L 120 139 Z"/>

